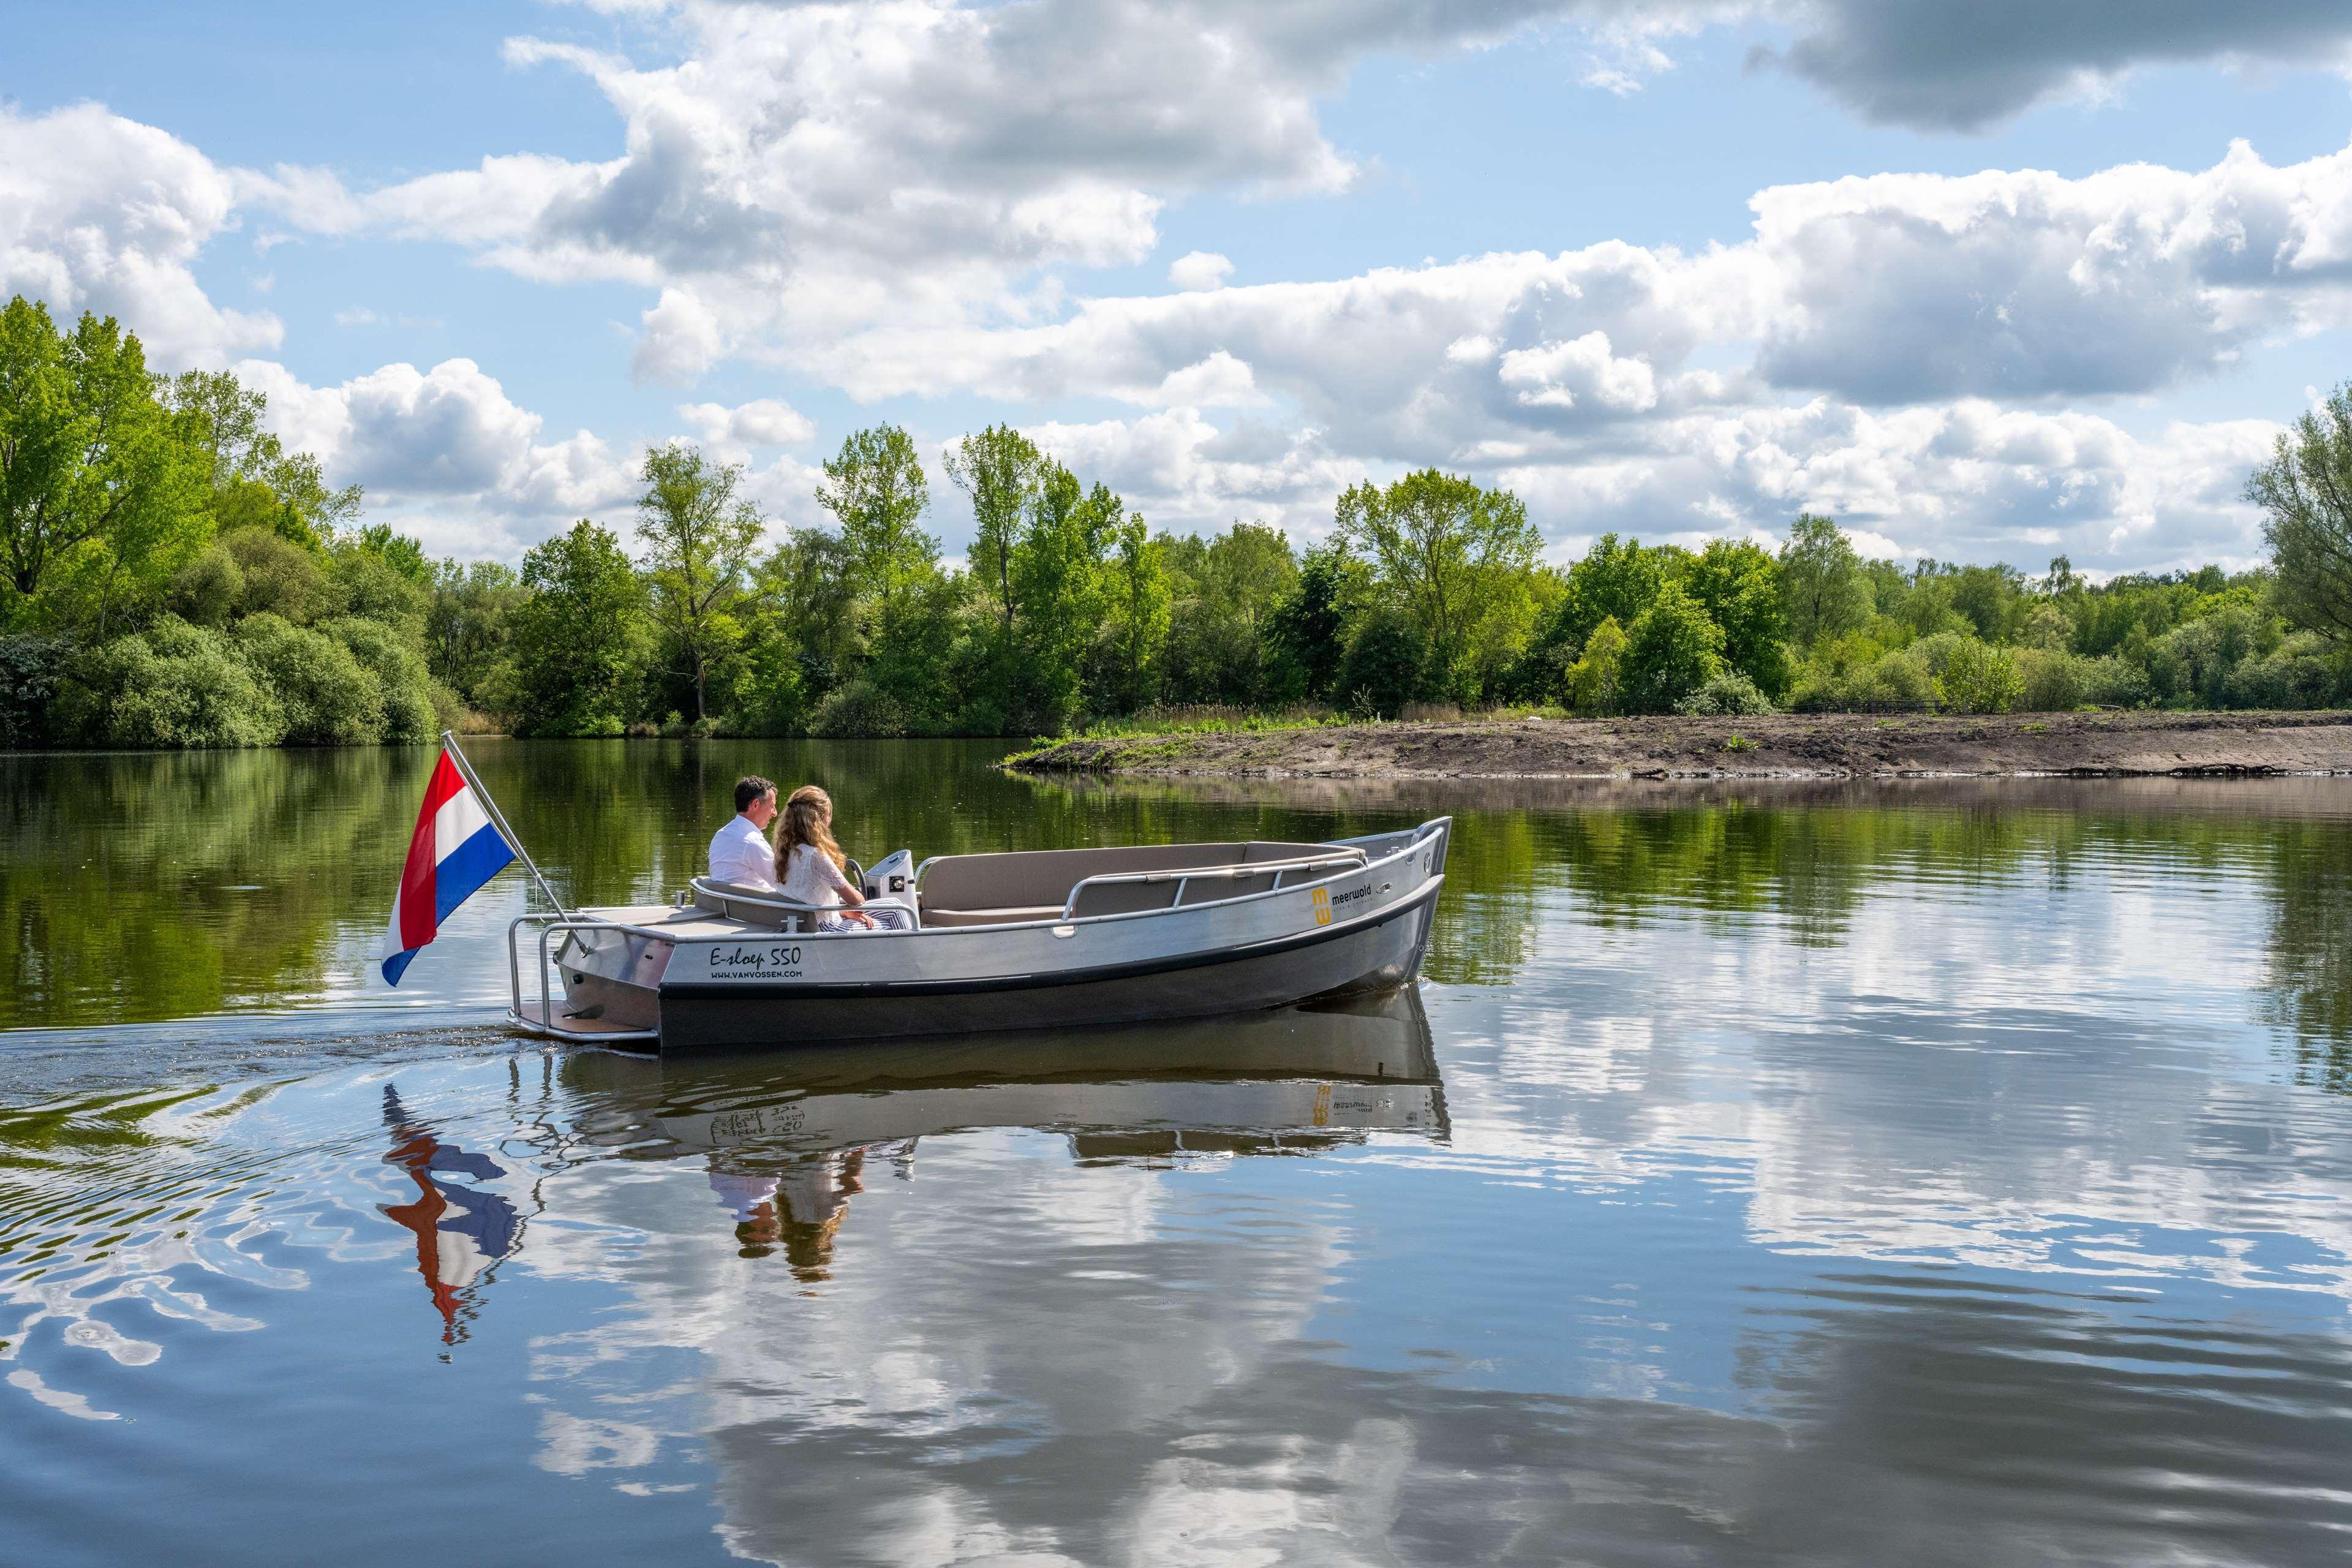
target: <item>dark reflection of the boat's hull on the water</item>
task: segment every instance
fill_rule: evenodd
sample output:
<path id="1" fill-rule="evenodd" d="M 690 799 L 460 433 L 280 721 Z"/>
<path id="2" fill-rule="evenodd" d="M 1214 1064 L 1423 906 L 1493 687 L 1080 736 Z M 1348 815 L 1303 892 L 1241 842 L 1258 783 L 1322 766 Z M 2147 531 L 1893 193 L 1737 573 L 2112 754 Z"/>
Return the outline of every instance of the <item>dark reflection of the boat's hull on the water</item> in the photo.
<path id="1" fill-rule="evenodd" d="M 1040 1128 L 1080 1159 L 1303 1154 L 1369 1133 L 1444 1138 L 1444 1095 L 1411 990 L 1322 1009 L 1087 1034 L 875 1044 L 691 1067 L 564 1063 L 604 1107 L 593 1143 L 628 1157 L 781 1166 L 936 1133 Z M 910 1154 L 901 1154 L 908 1159 Z"/>

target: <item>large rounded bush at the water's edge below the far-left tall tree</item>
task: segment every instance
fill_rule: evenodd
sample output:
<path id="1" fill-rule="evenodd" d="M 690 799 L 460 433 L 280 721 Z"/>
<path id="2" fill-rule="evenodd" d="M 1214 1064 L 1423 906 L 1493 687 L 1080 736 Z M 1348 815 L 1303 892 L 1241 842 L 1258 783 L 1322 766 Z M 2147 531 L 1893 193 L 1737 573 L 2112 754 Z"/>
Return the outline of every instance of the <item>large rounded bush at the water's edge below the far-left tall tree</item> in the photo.
<path id="1" fill-rule="evenodd" d="M 165 616 L 73 661 L 59 691 L 68 733 L 99 745 L 278 745 L 285 712 L 228 637 Z"/>

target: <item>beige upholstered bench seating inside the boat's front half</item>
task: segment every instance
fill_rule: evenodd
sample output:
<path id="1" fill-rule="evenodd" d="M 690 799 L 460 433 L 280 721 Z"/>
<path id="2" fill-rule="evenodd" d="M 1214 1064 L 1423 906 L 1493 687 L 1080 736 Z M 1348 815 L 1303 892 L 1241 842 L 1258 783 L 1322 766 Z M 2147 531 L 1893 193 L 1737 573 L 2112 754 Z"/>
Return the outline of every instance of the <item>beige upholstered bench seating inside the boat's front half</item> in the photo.
<path id="1" fill-rule="evenodd" d="M 1075 914 L 1124 914 L 1131 910 L 1167 910 L 1176 900 L 1183 872 L 1265 865 L 1270 860 L 1308 860 L 1362 851 L 1331 844 L 1138 844 L 1129 849 L 1042 849 L 997 856 L 941 856 L 922 872 L 924 926 L 1002 926 L 1025 919 L 1058 919 L 1063 905 L 1087 877 L 1162 872 L 1160 882 L 1124 882 L 1087 889 Z M 1232 879 L 1200 879 L 1183 889 L 1183 900 L 1209 903 L 1265 893 L 1275 872 Z"/>

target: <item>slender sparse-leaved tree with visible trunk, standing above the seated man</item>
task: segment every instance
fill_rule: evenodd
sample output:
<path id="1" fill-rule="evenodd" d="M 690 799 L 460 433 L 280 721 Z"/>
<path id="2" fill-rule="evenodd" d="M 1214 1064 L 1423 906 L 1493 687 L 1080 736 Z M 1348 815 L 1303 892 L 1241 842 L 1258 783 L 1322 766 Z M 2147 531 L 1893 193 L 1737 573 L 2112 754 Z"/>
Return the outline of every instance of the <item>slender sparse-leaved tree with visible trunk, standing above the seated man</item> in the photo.
<path id="1" fill-rule="evenodd" d="M 710 715 L 710 677 L 743 642 L 739 599 L 764 520 L 741 494 L 743 468 L 670 442 L 644 454 L 637 541 L 644 543 L 654 623 L 673 670 L 694 682 L 696 722 Z"/>

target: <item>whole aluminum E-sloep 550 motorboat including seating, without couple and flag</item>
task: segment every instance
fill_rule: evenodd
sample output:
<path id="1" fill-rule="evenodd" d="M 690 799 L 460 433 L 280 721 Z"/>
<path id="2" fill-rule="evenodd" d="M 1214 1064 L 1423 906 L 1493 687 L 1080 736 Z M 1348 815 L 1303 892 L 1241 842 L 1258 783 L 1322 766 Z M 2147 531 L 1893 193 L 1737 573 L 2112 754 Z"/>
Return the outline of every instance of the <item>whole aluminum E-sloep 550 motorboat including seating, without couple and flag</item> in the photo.
<path id="1" fill-rule="evenodd" d="M 508 926 L 513 1020 L 710 1048 L 1209 1018 L 1421 971 L 1454 818 L 1322 844 L 1150 844 L 851 863 L 906 931 L 706 877 L 668 905 Z M 536 940 L 536 997 L 524 950 Z"/>

